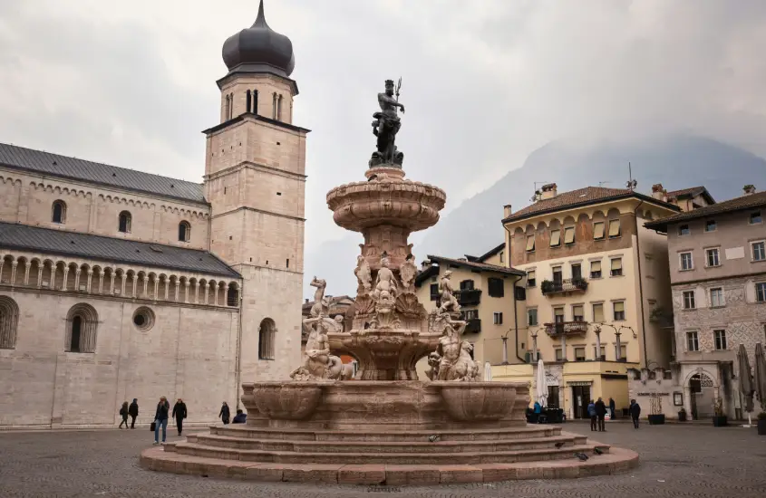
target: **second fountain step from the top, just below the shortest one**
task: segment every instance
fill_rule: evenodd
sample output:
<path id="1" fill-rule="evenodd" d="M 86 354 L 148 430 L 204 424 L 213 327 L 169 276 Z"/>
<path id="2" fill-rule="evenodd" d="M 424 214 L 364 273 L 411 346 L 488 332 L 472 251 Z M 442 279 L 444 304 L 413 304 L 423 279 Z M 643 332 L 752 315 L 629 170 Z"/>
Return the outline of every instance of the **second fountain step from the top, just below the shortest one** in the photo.
<path id="1" fill-rule="evenodd" d="M 425 438 L 424 438 L 425 439 Z M 554 448 L 557 444 L 585 445 L 586 436 L 549 436 L 529 439 L 492 441 L 284 441 L 245 437 L 198 434 L 188 436 L 189 443 L 239 450 L 295 453 L 495 453 L 528 449 Z"/>

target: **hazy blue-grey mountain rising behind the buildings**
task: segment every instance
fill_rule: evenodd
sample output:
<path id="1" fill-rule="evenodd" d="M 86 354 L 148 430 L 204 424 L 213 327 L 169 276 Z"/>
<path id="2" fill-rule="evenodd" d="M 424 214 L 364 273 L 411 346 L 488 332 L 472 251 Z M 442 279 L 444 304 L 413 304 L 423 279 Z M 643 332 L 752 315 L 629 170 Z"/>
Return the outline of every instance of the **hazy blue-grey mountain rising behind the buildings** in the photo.
<path id="1" fill-rule="evenodd" d="M 513 211 L 528 206 L 535 182 L 538 188 L 555 182 L 559 192 L 599 183 L 625 188 L 628 162 L 638 180 L 636 190 L 645 194 L 651 194 L 655 183 L 668 191 L 704 186 L 717 201 L 741 196 L 742 186 L 750 183 L 766 189 L 766 160 L 714 139 L 669 136 L 588 148 L 550 142 L 532 152 L 521 168 L 443 216 L 414 250 L 418 259 L 426 254 L 483 254 L 503 241 L 503 206 L 510 204 Z"/>

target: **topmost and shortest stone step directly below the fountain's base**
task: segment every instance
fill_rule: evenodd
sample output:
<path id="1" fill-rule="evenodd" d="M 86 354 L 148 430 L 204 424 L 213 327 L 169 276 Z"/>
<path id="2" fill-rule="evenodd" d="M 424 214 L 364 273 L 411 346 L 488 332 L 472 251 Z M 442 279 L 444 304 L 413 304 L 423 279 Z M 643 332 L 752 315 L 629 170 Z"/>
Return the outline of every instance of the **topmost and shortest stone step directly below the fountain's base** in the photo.
<path id="1" fill-rule="evenodd" d="M 530 439 L 560 436 L 559 426 L 527 426 L 507 429 L 470 429 L 470 431 L 337 431 L 313 429 L 272 429 L 253 426 L 211 426 L 210 434 L 250 439 L 276 439 L 279 441 L 412 441 L 426 442 L 428 436 L 438 434 L 440 441 L 495 441 L 498 439 Z"/>

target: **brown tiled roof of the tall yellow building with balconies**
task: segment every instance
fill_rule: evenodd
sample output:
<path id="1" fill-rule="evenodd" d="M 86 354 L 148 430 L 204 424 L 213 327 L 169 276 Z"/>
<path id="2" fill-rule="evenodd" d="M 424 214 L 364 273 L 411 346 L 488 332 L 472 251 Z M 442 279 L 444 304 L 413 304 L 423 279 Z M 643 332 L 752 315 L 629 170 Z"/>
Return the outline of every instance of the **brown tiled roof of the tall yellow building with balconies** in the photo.
<path id="1" fill-rule="evenodd" d="M 578 188 L 577 190 L 571 190 L 569 192 L 563 192 L 558 196 L 551 197 L 549 199 L 539 200 L 531 206 L 519 209 L 516 213 L 509 215 L 509 217 L 503 220 L 503 223 L 509 221 L 517 221 L 525 219 L 534 215 L 542 215 L 544 213 L 553 213 L 562 209 L 569 209 L 578 206 L 588 206 L 591 204 L 598 204 L 606 201 L 636 197 L 645 202 L 650 202 L 658 206 L 664 206 L 669 209 L 678 210 L 678 206 L 673 206 L 661 200 L 657 200 L 654 197 L 645 196 L 639 194 L 634 190 L 627 188 L 607 188 L 607 187 L 585 187 Z"/>

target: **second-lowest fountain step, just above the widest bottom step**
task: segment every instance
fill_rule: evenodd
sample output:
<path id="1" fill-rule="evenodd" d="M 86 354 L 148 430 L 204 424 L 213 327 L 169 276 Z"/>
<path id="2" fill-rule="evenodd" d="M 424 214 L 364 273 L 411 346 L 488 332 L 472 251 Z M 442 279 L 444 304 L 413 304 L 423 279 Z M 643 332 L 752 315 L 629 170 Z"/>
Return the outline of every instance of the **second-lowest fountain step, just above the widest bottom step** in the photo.
<path id="1" fill-rule="evenodd" d="M 461 453 L 455 458 L 454 453 L 294 453 L 278 451 L 237 450 L 194 443 L 178 443 L 175 450 L 179 455 L 238 460 L 243 462 L 263 462 L 273 464 L 500 464 L 520 462 L 540 462 L 576 458 L 576 453 L 594 454 L 594 445 L 565 446 L 560 449 L 533 449 L 496 453 Z M 598 446 L 602 452 L 608 452 L 608 446 Z"/>

